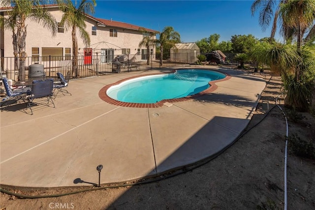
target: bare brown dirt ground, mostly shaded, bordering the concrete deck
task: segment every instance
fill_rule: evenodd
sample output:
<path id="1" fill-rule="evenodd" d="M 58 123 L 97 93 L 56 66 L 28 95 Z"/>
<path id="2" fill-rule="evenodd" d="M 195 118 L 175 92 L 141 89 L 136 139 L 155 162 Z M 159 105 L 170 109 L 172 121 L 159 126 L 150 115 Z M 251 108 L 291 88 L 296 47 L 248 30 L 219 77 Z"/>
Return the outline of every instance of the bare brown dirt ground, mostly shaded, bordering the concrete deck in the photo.
<path id="1" fill-rule="evenodd" d="M 286 123 L 282 111 L 278 107 L 272 109 L 281 92 L 281 81 L 276 76 L 262 77 L 267 86 L 247 133 L 211 161 L 193 169 L 185 168 L 185 173 L 177 176 L 133 186 L 10 189 L 11 192 L 34 196 L 93 190 L 37 199 L 21 199 L 1 193 L 0 210 L 284 209 Z M 288 113 L 288 110 L 284 109 L 284 112 Z M 303 119 L 288 122 L 289 135 L 297 134 L 301 139 L 314 142 L 315 119 L 309 113 L 302 115 Z M 315 209 L 315 160 L 295 156 L 290 151 L 287 158 L 287 206 L 289 210 Z"/>

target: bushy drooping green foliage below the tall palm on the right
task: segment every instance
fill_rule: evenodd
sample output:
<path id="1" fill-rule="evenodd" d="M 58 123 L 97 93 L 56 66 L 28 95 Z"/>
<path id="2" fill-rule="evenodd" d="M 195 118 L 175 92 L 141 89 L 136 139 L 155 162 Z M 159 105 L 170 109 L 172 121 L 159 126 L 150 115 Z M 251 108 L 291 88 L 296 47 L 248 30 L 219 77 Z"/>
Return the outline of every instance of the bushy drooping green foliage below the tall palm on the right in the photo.
<path id="1" fill-rule="evenodd" d="M 254 46 L 252 57 L 270 65 L 271 71 L 280 73 L 286 90 L 285 105 L 298 111 L 306 111 L 312 100 L 312 87 L 315 80 L 315 46 L 310 40 L 301 47 L 301 54 L 296 45 L 279 42 L 260 42 Z M 295 66 L 304 70 L 300 81 L 294 77 Z"/>

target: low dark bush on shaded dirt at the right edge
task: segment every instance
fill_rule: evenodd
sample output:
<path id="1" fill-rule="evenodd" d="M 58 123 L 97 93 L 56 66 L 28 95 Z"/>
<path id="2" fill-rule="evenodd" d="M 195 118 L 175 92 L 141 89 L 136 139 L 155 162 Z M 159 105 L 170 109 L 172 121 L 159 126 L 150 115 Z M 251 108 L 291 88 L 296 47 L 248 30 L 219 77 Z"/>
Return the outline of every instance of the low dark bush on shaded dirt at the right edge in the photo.
<path id="1" fill-rule="evenodd" d="M 295 155 L 315 159 L 315 146 L 312 142 L 302 140 L 297 134 L 288 137 L 288 149 Z"/>

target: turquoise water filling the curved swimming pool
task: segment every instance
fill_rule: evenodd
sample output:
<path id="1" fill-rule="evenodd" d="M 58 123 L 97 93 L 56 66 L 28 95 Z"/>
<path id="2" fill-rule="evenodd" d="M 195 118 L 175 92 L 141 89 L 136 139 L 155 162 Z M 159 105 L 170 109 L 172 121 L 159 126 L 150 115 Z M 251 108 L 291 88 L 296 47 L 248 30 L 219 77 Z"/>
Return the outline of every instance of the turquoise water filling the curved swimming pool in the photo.
<path id="1" fill-rule="evenodd" d="M 107 95 L 130 103 L 156 103 L 163 99 L 182 98 L 209 88 L 209 82 L 225 78 L 210 70 L 186 69 L 171 74 L 151 75 L 110 87 Z"/>

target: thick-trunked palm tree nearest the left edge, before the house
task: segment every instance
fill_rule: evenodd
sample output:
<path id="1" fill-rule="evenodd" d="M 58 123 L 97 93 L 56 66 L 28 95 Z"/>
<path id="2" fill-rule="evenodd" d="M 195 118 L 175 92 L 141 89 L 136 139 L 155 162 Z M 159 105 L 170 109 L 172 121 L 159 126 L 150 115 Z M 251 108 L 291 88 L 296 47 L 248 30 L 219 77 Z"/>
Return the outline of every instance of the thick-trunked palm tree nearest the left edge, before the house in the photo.
<path id="1" fill-rule="evenodd" d="M 19 54 L 19 80 L 25 79 L 25 39 L 27 35 L 26 21 L 31 20 L 40 23 L 44 28 L 50 30 L 52 35 L 56 35 L 58 25 L 55 18 L 45 10 L 44 0 L 1 0 L 0 6 L 12 6 L 12 10 L 8 10 L 8 18 L 3 20 L 3 24 L 11 21 L 11 24 L 6 25 L 13 32 L 13 48 L 14 53 Z M 17 42 L 17 45 L 16 45 Z"/>

